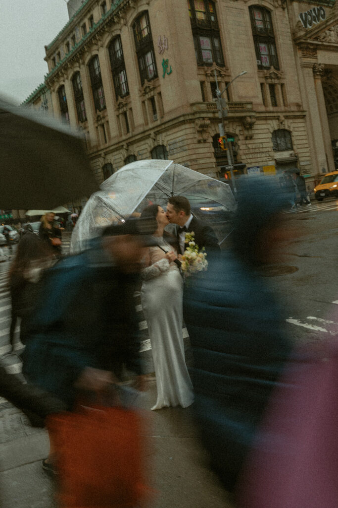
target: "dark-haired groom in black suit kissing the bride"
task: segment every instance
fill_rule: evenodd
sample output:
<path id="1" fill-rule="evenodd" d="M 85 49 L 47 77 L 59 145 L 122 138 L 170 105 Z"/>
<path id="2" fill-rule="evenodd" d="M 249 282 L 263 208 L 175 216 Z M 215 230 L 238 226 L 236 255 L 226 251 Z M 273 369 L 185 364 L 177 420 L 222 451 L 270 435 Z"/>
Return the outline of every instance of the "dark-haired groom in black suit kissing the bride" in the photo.
<path id="1" fill-rule="evenodd" d="M 172 196 L 167 204 L 167 219 L 171 224 L 177 224 L 176 236 L 181 254 L 185 250 L 185 233 L 195 233 L 195 243 L 199 249 L 205 247 L 210 250 L 220 250 L 214 230 L 193 216 L 190 203 L 184 196 Z"/>

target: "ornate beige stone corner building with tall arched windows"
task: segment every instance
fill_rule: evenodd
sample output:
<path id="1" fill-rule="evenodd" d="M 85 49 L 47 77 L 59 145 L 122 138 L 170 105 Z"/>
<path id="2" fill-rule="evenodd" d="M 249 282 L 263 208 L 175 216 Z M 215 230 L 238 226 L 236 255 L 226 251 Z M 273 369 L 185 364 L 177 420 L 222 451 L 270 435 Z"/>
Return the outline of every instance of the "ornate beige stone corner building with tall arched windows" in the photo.
<path id="1" fill-rule="evenodd" d="M 48 94 L 49 111 L 83 133 L 99 182 L 144 158 L 222 177 L 216 80 L 239 172 L 298 167 L 311 185 L 334 169 L 331 1 L 72 0 L 68 11 L 25 102 Z"/>

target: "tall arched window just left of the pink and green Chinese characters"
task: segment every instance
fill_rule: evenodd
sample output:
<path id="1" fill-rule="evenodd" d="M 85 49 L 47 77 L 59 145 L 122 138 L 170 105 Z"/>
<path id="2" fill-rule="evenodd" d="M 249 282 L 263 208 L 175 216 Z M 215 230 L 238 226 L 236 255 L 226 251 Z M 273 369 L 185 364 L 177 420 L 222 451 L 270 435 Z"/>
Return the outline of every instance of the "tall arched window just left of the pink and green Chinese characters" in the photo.
<path id="1" fill-rule="evenodd" d="M 142 12 L 133 24 L 138 68 L 141 84 L 157 78 L 152 31 L 147 11 Z"/>

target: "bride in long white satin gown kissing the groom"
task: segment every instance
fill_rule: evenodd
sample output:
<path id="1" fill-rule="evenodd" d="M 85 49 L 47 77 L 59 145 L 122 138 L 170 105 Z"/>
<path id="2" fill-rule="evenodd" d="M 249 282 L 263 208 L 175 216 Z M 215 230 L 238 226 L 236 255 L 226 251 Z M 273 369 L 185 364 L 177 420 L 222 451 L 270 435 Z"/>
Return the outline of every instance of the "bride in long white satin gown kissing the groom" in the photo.
<path id="1" fill-rule="evenodd" d="M 193 385 L 184 360 L 182 336 L 183 279 L 172 246 L 163 239 L 169 224 L 159 205 L 147 206 L 142 217 L 154 217 L 154 237 L 161 247 L 148 247 L 142 270 L 141 303 L 147 321 L 157 381 L 157 402 L 152 409 L 187 407 L 194 401 Z"/>

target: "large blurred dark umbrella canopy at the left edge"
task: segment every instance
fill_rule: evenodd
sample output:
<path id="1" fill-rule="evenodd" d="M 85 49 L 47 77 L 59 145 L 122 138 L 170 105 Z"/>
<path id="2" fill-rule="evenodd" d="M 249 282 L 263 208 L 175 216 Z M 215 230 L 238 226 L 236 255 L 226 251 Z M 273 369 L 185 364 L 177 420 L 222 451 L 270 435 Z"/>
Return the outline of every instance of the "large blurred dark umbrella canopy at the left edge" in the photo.
<path id="1" fill-rule="evenodd" d="M 0 98 L 0 133 L 3 209 L 47 209 L 98 189 L 83 140 L 66 126 Z"/>

